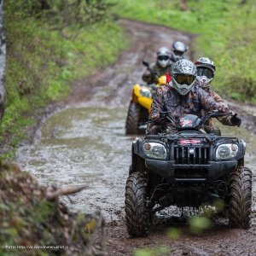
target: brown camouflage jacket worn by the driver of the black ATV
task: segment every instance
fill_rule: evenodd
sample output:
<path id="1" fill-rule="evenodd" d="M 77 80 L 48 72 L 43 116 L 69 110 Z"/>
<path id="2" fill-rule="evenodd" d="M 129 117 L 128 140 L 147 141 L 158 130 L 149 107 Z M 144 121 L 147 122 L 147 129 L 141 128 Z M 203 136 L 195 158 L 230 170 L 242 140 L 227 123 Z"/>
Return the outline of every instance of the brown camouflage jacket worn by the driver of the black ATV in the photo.
<path id="1" fill-rule="evenodd" d="M 177 90 L 172 88 L 172 81 L 169 84 L 161 86 L 156 91 L 149 111 L 149 119 L 154 113 L 163 111 L 170 111 L 174 117 L 178 118 L 188 113 L 201 117 L 202 109 L 206 111 L 224 110 L 222 104 L 215 102 L 205 90 L 195 84 L 186 96 L 181 96 Z M 226 110 L 228 111 L 228 108 Z M 149 123 L 146 133 L 150 133 L 154 125 L 155 122 Z"/>

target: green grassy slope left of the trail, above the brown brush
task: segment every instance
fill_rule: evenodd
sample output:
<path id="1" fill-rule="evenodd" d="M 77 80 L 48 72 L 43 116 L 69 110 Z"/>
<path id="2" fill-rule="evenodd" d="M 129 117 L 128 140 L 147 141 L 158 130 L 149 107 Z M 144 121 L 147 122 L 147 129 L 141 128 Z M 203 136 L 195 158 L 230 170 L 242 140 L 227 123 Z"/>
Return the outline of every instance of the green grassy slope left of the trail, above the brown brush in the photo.
<path id="1" fill-rule="evenodd" d="M 1 148 L 2 158 L 11 160 L 34 122 L 28 113 L 61 100 L 74 80 L 111 65 L 128 47 L 110 8 L 99 0 L 4 1 L 7 106 L 0 139 L 10 146 Z"/>

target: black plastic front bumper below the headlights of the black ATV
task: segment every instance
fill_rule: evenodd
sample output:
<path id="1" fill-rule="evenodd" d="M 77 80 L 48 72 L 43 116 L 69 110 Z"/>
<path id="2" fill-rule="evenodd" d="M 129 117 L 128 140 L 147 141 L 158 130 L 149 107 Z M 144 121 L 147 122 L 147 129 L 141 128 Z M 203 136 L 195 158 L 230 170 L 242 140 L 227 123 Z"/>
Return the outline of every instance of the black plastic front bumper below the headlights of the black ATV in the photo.
<path id="1" fill-rule="evenodd" d="M 175 165 L 175 161 L 145 160 L 148 169 L 169 183 L 213 183 L 236 169 L 237 160 L 208 161 L 207 165 Z"/>

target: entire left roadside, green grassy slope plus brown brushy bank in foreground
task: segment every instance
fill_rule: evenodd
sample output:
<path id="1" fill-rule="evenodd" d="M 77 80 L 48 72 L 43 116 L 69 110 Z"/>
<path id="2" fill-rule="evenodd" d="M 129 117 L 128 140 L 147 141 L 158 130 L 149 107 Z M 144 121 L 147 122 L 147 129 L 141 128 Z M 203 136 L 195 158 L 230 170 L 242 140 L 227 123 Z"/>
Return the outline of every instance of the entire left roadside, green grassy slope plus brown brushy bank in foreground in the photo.
<path id="1" fill-rule="evenodd" d="M 97 0 L 3 3 L 7 102 L 0 131 L 1 255 L 107 255 L 101 212 L 73 213 L 59 201 L 85 187 L 44 187 L 9 162 L 26 126 L 35 121 L 29 118 L 34 111 L 67 96 L 75 79 L 110 65 L 128 46 L 109 7 Z"/>

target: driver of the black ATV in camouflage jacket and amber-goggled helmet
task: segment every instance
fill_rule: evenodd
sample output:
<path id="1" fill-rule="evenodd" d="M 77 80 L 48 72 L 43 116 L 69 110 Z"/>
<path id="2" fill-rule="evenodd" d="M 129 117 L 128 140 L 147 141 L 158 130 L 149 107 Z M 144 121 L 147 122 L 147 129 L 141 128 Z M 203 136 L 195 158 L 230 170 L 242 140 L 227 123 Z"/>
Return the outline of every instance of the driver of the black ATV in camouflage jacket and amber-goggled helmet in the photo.
<path id="1" fill-rule="evenodd" d="M 183 114 L 194 113 L 201 116 L 201 109 L 212 111 L 217 109 L 222 113 L 230 113 L 230 108 L 215 102 L 201 87 L 195 85 L 197 69 L 189 60 L 177 61 L 172 67 L 172 80 L 161 86 L 154 95 L 148 123 L 147 134 L 154 133 L 158 125 L 160 112 L 169 111 L 175 118 Z M 166 123 L 166 131 L 172 131 L 172 124 Z"/>

